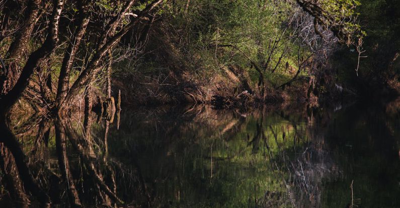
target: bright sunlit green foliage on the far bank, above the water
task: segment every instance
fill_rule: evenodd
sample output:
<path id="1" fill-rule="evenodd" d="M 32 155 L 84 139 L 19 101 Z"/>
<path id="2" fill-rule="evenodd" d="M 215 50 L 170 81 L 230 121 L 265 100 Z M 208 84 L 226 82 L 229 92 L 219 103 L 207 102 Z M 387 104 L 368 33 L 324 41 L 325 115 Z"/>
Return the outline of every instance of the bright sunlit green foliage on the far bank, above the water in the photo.
<path id="1" fill-rule="evenodd" d="M 279 62 L 278 76 L 289 77 L 282 63 L 292 63 L 290 59 L 295 59 L 289 54 L 289 49 L 296 48 L 289 40 L 292 4 L 196 0 L 187 6 L 186 2 L 178 2 L 169 11 L 174 17 L 174 30 L 181 31 L 180 37 L 184 37 L 179 46 L 188 57 L 198 57 L 192 62 L 202 62 L 200 69 L 218 69 L 219 64 L 240 66 L 250 73 L 255 85 L 259 72 L 254 64 L 270 72 Z M 279 46 L 272 49 L 275 41 Z M 281 54 L 284 55 L 279 61 Z M 193 70 L 198 71 L 199 67 Z M 268 73 L 265 76 L 269 76 Z"/>

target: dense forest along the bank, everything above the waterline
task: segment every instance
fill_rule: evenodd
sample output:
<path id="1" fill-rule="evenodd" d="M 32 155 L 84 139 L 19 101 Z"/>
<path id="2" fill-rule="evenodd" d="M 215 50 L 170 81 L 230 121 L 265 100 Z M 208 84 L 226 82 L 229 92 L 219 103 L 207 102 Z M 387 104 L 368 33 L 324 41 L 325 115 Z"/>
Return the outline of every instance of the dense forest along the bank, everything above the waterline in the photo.
<path id="1" fill-rule="evenodd" d="M 125 104 L 140 105 L 318 105 L 346 95 L 394 95 L 396 7 L 351 0 L 2 1 L 2 109 L 18 100 L 43 113 L 81 103 L 90 109 L 119 90 Z"/>

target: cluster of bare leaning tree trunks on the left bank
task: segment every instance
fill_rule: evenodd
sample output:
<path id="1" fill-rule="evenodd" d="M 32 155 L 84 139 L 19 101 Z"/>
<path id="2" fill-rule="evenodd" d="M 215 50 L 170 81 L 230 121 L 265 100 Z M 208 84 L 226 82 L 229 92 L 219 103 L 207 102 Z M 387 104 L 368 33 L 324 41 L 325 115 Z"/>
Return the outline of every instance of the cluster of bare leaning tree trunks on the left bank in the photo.
<path id="1" fill-rule="evenodd" d="M 3 69 L 2 91 L 0 96 L 0 106 L 4 112 L 8 112 L 14 103 L 21 98 L 23 92 L 28 87 L 32 75 L 35 73 L 43 73 L 42 67 L 45 63 L 44 60 L 56 59 L 55 57 L 61 55 L 62 64 L 58 76 L 58 84 L 55 98 L 51 95 L 41 95 L 42 99 L 46 100 L 46 105 L 49 111 L 52 112 L 65 112 L 71 106 L 78 93 L 84 89 L 96 77 L 107 64 L 107 54 L 111 53 L 111 49 L 118 45 L 121 38 L 124 37 L 129 31 L 138 29 L 142 21 L 152 16 L 153 10 L 161 5 L 164 0 L 150 1 L 148 3 L 140 3 L 134 0 L 124 2 L 96 2 L 96 1 L 72 1 L 64 5 L 64 1 L 53 1 L 52 4 L 46 1 L 30 0 L 26 5 L 27 17 L 20 24 L 21 29 L 15 29 L 14 42 L 9 47 L 7 69 Z M 39 13 L 39 5 L 44 4 L 42 10 L 45 11 L 47 7 L 52 7 L 53 12 L 50 20 L 45 21 L 46 18 L 41 18 L 43 15 Z M 4 10 L 11 11 L 12 13 L 18 12 L 18 8 L 8 8 L 9 5 L 4 5 Z M 62 13 L 65 9 L 65 12 Z M 75 12 L 76 11 L 76 12 Z M 132 12 L 134 11 L 134 12 Z M 72 16 L 71 16 L 72 14 Z M 62 27 L 66 23 L 66 27 L 73 31 L 69 31 L 60 27 L 60 19 L 67 18 L 71 21 L 61 22 Z M 8 21 L 10 22 L 10 21 Z M 92 22 L 92 24 L 90 24 Z M 38 24 L 37 24 L 38 23 Z M 6 23 L 3 23 L 3 25 Z M 27 61 L 24 61 L 22 56 L 24 53 L 29 53 L 32 46 L 29 40 L 32 38 L 32 31 L 37 28 L 39 31 L 43 28 L 43 24 L 48 24 L 47 32 L 39 33 L 39 37 L 47 37 L 43 44 L 39 40 L 33 40 L 35 44 L 40 47 L 33 51 Z M 7 24 L 6 24 L 7 25 Z M 9 26 L 8 26 L 9 27 Z M 88 31 L 87 29 L 95 29 Z M 23 34 L 23 35 L 22 35 Z M 36 34 L 37 35 L 37 34 Z M 65 52 L 59 49 L 58 37 L 67 37 L 67 40 L 62 40 L 63 44 L 67 44 Z M 81 42 L 85 37 L 85 47 Z M 97 40 L 97 41 L 93 41 Z M 93 51 L 92 54 L 86 56 L 84 50 Z M 23 53 L 24 52 L 24 53 Z M 61 52 L 61 53 L 60 53 Z M 76 56 L 79 57 L 76 57 Z M 82 57 L 84 55 L 84 57 Z M 86 57 L 85 57 L 86 56 Z M 109 60 L 111 62 L 112 60 Z M 20 63 L 24 63 L 21 65 Z M 48 64 L 48 63 L 47 63 Z M 50 62 L 51 64 L 51 62 Z M 76 70 L 71 70 L 80 64 L 82 67 L 79 73 L 73 80 L 71 74 L 76 73 Z M 15 66 L 13 68 L 13 66 Z M 22 72 L 19 73 L 20 66 L 23 66 Z M 47 69 L 52 70 L 52 69 Z M 51 76 L 50 76 L 51 78 Z M 69 83 L 73 81 L 72 85 Z M 15 84 L 14 84 L 15 82 Z M 52 83 L 48 86 L 51 86 Z M 46 86 L 41 86 L 45 88 Z M 46 99 L 44 98 L 46 97 Z M 51 98 L 51 100 L 49 100 Z M 66 102 L 67 100 L 68 102 Z"/>

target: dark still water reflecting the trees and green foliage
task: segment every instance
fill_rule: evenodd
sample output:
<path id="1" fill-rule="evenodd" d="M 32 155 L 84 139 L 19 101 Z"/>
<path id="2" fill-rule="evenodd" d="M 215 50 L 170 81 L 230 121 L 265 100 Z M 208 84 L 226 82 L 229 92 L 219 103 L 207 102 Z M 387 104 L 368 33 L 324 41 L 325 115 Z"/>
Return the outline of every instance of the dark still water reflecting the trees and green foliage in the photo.
<path id="1" fill-rule="evenodd" d="M 396 103 L 32 120 L 1 146 L 1 207 L 400 207 Z"/>

